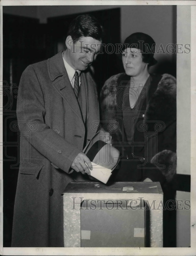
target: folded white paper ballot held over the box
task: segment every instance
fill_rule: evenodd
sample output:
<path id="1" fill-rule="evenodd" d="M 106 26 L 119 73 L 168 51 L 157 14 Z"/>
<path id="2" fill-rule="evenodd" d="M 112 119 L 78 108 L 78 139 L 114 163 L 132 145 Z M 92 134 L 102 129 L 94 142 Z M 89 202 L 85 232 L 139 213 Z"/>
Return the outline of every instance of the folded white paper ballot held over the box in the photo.
<path id="1" fill-rule="evenodd" d="M 90 175 L 106 184 L 112 171 L 93 162 L 91 162 L 91 165 L 93 166 L 93 170 L 90 170 Z"/>

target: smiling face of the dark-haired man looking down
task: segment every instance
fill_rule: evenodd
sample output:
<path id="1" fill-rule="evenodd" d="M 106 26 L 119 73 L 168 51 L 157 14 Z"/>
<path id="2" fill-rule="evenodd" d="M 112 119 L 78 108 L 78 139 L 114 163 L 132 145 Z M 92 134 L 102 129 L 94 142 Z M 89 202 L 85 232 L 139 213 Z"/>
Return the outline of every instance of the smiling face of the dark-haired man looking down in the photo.
<path id="1" fill-rule="evenodd" d="M 86 70 L 100 52 L 101 41 L 92 37 L 80 37 L 75 43 L 68 43 L 69 64 L 75 70 Z"/>

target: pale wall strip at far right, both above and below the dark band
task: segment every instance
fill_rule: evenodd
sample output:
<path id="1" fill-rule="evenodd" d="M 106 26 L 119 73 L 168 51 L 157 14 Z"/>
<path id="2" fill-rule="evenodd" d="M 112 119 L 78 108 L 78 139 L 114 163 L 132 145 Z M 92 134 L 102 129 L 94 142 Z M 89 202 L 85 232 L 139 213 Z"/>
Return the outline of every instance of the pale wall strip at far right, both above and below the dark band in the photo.
<path id="1" fill-rule="evenodd" d="M 177 6 L 177 43 L 191 42 L 191 6 Z M 177 54 L 177 173 L 190 175 L 191 160 L 191 56 Z M 183 120 L 183 122 L 182 122 Z M 186 136 L 185 136 L 186 134 Z M 190 200 L 190 192 L 177 191 L 176 200 Z M 190 246 L 190 210 L 176 212 L 176 246 Z"/>

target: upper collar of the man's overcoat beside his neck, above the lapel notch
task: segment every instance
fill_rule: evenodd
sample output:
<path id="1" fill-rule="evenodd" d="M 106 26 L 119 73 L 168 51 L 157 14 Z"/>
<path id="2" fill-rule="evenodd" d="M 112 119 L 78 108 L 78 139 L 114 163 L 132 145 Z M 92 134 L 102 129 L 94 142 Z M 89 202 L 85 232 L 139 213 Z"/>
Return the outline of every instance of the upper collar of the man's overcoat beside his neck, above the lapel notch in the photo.
<path id="1" fill-rule="evenodd" d="M 66 72 L 62 52 L 63 50 L 48 59 L 48 73 L 51 81 L 54 81 L 57 77 L 63 76 Z"/>

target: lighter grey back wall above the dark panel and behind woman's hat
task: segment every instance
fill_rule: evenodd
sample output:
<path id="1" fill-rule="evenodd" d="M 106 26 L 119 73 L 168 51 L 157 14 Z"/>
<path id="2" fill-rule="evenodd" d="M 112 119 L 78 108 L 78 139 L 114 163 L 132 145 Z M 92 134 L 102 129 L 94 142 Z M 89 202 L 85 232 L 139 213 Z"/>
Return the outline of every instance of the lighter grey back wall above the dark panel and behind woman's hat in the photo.
<path id="1" fill-rule="evenodd" d="M 173 41 L 173 7 L 171 5 L 38 6 L 38 18 L 41 23 L 46 23 L 48 17 L 110 8 L 121 8 L 121 42 L 129 34 L 139 31 L 157 39 L 158 41 L 155 40 L 157 43 L 165 44 Z"/>

